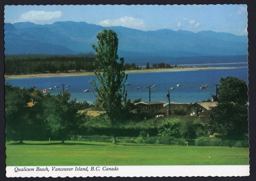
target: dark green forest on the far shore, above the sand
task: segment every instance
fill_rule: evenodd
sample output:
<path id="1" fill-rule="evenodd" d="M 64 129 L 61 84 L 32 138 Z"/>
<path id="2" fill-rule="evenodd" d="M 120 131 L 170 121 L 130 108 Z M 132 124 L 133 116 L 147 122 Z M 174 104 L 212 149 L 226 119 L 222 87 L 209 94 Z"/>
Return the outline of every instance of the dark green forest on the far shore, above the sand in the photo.
<path id="1" fill-rule="evenodd" d="M 77 55 L 43 55 L 43 54 L 20 54 L 5 55 L 4 71 L 6 75 L 19 74 L 40 74 L 40 73 L 72 73 L 72 72 L 93 72 L 95 67 L 93 61 L 95 56 L 89 54 Z M 164 62 L 139 66 L 135 62 L 125 63 L 124 70 L 140 69 L 172 69 L 178 68 L 177 64 L 170 65 Z M 181 68 L 181 67 L 180 67 Z"/>

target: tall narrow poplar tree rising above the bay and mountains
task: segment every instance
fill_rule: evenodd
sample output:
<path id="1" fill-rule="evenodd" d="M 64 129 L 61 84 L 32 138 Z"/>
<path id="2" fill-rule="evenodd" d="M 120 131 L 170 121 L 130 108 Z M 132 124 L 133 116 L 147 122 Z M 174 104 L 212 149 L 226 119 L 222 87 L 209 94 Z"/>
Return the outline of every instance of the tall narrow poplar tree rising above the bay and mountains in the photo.
<path id="1" fill-rule="evenodd" d="M 124 58 L 118 60 L 118 38 L 113 30 L 104 29 L 97 34 L 98 46 L 95 50 L 95 75 L 98 81 L 92 79 L 90 83 L 96 91 L 93 94 L 100 103 L 99 109 L 106 112 L 108 124 L 111 128 L 113 143 L 116 143 L 115 130 L 120 121 L 120 113 L 126 101 L 124 83 L 127 75 L 124 72 Z"/>

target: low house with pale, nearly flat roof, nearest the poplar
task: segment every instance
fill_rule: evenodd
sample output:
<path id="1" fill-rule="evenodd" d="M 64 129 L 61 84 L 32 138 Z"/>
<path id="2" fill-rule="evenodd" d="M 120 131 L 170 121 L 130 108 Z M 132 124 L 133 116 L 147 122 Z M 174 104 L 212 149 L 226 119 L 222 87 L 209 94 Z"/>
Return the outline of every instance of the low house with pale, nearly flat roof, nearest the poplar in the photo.
<path id="1" fill-rule="evenodd" d="M 156 111 L 164 107 L 164 101 L 155 101 L 155 102 L 138 102 L 135 103 L 140 110 L 142 111 Z"/>

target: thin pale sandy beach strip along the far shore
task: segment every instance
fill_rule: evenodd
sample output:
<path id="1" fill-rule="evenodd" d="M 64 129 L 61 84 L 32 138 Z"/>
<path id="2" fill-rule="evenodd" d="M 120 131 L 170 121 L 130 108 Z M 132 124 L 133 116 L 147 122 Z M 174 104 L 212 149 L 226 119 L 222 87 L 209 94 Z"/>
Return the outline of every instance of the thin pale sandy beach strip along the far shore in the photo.
<path id="1" fill-rule="evenodd" d="M 214 69 L 235 69 L 241 67 L 195 67 L 195 68 L 173 68 L 173 69 L 149 69 L 149 70 L 127 70 L 125 73 L 146 73 L 146 72 L 177 72 L 177 71 L 201 71 Z M 76 72 L 76 73 L 42 73 L 42 74 L 20 74 L 20 75 L 4 75 L 5 79 L 19 78 L 39 78 L 39 77 L 68 77 L 68 76 L 86 76 L 94 75 L 94 72 Z"/>

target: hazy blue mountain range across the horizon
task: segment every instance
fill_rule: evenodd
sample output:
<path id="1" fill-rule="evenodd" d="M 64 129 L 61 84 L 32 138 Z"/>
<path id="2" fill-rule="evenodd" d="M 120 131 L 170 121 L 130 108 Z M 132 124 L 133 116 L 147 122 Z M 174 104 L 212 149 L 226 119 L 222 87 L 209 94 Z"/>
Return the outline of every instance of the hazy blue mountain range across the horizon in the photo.
<path id="1" fill-rule="evenodd" d="M 5 23 L 5 54 L 77 54 L 93 52 L 96 34 L 103 29 L 116 31 L 119 38 L 118 55 L 126 61 L 153 57 L 247 56 L 247 36 L 230 33 L 160 29 L 141 31 L 86 22 L 63 21 L 51 25 L 30 22 Z M 159 58 L 161 59 L 161 58 Z M 206 62 L 209 63 L 209 62 Z M 212 62 L 210 62 L 212 63 Z"/>

